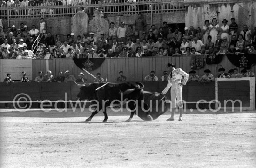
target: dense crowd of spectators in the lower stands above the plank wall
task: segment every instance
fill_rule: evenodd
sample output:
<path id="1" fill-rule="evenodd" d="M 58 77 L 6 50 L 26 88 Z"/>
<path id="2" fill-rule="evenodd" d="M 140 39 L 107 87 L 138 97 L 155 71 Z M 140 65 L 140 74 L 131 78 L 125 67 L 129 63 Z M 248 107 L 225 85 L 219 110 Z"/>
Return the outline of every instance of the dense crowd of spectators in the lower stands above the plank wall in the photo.
<path id="1" fill-rule="evenodd" d="M 205 26 L 194 29 L 185 27 L 181 33 L 179 25 L 173 28 L 163 22 L 157 29 L 152 25 L 148 33 L 144 31 L 146 21 L 138 15 L 134 25 L 121 22 L 116 28 L 110 23 L 108 37 L 101 34 L 99 38 L 93 32 L 76 35 L 46 32 L 46 21 L 41 18 L 38 26 L 31 28 L 23 23 L 16 28 L 8 27 L 4 32 L 0 27 L 0 58 L 16 59 L 54 59 L 54 58 L 103 58 L 103 57 L 150 57 L 150 56 L 187 56 L 204 54 L 252 54 L 256 53 L 256 27 L 253 32 L 243 25 L 237 32 L 238 25 L 234 18 L 231 24 L 222 20 L 222 26 L 216 19 L 205 20 Z M 40 34 L 41 32 L 41 34 Z M 32 45 L 40 34 L 38 47 Z M 32 52 L 32 50 L 34 50 Z"/>

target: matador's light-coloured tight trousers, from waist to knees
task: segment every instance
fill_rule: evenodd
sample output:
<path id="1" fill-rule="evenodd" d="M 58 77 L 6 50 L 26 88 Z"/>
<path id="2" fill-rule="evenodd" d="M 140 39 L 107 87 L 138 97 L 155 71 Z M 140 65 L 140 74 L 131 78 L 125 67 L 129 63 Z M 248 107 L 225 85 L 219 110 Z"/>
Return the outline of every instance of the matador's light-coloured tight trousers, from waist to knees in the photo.
<path id="1" fill-rule="evenodd" d="M 172 82 L 172 87 L 171 87 L 172 108 L 176 107 L 176 99 L 177 99 L 177 103 L 178 103 L 179 108 L 183 108 L 182 89 L 183 89 L 183 85 L 179 85 L 176 82 Z"/>

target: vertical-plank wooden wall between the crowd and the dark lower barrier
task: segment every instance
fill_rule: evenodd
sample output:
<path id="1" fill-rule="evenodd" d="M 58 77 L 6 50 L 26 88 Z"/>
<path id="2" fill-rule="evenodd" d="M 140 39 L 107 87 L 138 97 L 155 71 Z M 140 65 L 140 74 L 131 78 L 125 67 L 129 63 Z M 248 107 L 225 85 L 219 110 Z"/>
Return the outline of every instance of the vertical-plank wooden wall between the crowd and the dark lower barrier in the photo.
<path id="1" fill-rule="evenodd" d="M 140 57 L 140 58 L 106 58 L 101 67 L 91 71 L 91 74 L 96 75 L 98 72 L 104 80 L 107 78 L 110 82 L 116 82 L 119 76 L 119 71 L 123 71 L 127 77 L 127 81 L 144 81 L 144 78 L 154 70 L 155 75 L 161 80 L 163 71 L 166 70 L 166 64 L 172 62 L 176 68 L 182 68 L 185 72 L 191 71 L 190 67 L 191 56 L 178 57 Z M 210 69 L 211 73 L 216 77 L 216 69 L 222 65 L 226 72 L 233 69 L 234 66 L 226 56 L 224 56 L 220 64 L 206 64 L 204 68 L 196 70 L 199 76 L 203 75 L 204 69 Z M 239 67 L 239 71 L 242 69 Z M 34 80 L 38 76 L 38 71 L 43 71 L 46 74 L 47 70 L 51 70 L 56 76 L 58 71 L 63 73 L 66 70 L 70 74 L 78 78 L 79 72 L 83 72 L 77 67 L 72 59 L 49 59 L 49 60 L 15 60 L 15 59 L 0 59 L 0 81 L 6 77 L 7 73 L 11 73 L 13 80 L 20 80 L 21 72 L 26 71 L 29 79 Z M 252 72 L 256 72 L 256 67 L 253 67 Z M 84 72 L 85 73 L 85 72 Z M 85 73 L 85 78 L 88 82 L 93 82 L 94 79 Z"/>

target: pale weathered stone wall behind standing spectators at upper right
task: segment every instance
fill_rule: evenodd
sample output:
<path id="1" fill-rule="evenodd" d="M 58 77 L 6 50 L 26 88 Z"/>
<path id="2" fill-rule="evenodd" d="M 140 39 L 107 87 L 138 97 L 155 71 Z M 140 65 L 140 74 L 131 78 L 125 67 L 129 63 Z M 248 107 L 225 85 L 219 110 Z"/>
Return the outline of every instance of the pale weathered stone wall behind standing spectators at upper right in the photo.
<path id="1" fill-rule="evenodd" d="M 238 31 L 243 30 L 243 25 L 247 24 L 250 30 L 256 26 L 256 1 L 243 3 L 222 3 L 222 4 L 190 4 L 185 14 L 186 26 L 203 27 L 204 20 L 217 18 L 220 26 L 222 20 L 235 18 L 238 24 Z"/>

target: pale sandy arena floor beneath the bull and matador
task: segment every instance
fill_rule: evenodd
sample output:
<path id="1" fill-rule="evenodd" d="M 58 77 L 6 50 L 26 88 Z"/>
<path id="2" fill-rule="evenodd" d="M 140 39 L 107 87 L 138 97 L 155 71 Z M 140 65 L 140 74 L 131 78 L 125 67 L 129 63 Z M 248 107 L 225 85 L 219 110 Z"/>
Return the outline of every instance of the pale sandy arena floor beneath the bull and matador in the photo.
<path id="1" fill-rule="evenodd" d="M 256 168 L 256 113 L 1 112 L 1 168 Z"/>

